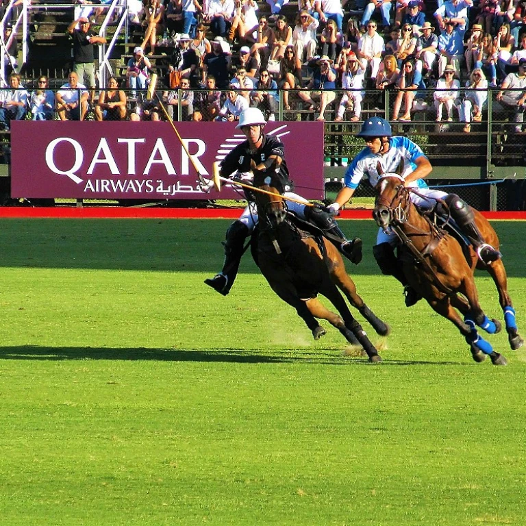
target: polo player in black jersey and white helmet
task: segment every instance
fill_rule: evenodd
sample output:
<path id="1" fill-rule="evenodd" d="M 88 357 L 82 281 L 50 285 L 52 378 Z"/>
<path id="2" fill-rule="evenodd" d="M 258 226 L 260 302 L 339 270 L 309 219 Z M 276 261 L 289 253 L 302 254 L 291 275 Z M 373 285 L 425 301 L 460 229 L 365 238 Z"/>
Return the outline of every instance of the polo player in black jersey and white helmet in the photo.
<path id="1" fill-rule="evenodd" d="M 343 255 L 347 256 L 354 264 L 360 263 L 362 260 L 362 240 L 358 238 L 352 241 L 347 240 L 331 214 L 320 208 L 308 206 L 307 199 L 303 199 L 291 191 L 292 182 L 288 175 L 284 144 L 277 137 L 265 135 L 263 133 L 265 125 L 265 118 L 258 108 L 247 108 L 240 114 L 239 124 L 236 128 L 241 129 L 247 140 L 236 146 L 223 159 L 221 177 L 250 171 L 257 173 L 273 172 L 274 178 L 277 179 L 279 192 L 284 194 L 285 199 L 287 197 L 295 199 L 295 201 L 286 201 L 288 209 L 301 218 L 312 221 Z M 301 201 L 305 204 L 302 204 Z M 214 277 L 205 279 L 205 284 L 223 296 L 230 292 L 234 284 L 243 255 L 245 238 L 252 233 L 257 222 L 258 211 L 255 203 L 249 200 L 249 204 L 243 210 L 240 218 L 227 229 L 223 270 Z"/>

